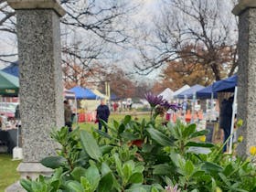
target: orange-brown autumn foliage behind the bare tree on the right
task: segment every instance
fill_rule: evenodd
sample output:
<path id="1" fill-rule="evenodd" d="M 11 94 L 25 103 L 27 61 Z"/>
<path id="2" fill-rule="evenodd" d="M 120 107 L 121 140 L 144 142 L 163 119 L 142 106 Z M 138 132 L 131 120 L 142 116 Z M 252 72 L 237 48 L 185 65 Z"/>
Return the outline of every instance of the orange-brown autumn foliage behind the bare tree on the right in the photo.
<path id="1" fill-rule="evenodd" d="M 212 69 L 204 64 L 204 59 L 198 59 L 193 55 L 187 56 L 187 54 L 191 52 L 191 49 L 194 49 L 193 51 L 197 52 L 198 56 L 205 54 L 203 48 L 197 48 L 197 50 L 195 50 L 193 45 L 188 45 L 180 52 L 179 59 L 167 63 L 161 73 L 162 80 L 155 83 L 154 91 L 163 91 L 166 87 L 176 91 L 185 84 L 189 86 L 195 84 L 208 86 L 215 80 Z M 223 55 L 223 60 L 226 59 L 225 62 L 228 65 L 230 57 L 225 55 L 226 53 L 229 54 L 229 51 L 223 49 L 221 55 Z M 219 65 L 219 68 L 222 68 L 220 71 L 224 73 L 224 66 Z M 225 74 L 221 75 L 224 76 Z"/>

